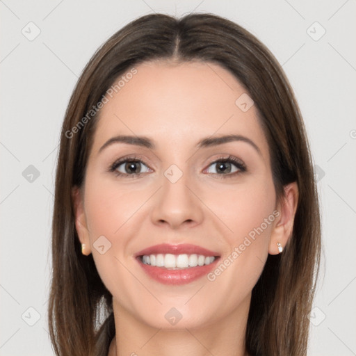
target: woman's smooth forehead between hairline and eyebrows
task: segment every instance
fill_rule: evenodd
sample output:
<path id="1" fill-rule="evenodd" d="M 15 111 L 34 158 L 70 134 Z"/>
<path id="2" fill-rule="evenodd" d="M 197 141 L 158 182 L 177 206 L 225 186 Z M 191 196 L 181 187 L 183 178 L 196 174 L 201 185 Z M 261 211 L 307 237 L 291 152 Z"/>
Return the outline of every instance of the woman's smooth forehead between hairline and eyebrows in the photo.
<path id="1" fill-rule="evenodd" d="M 246 102 L 248 93 L 220 65 L 154 61 L 135 68 L 136 74 L 115 80 L 122 79 L 112 97 L 106 95 L 94 151 L 119 134 L 147 136 L 166 149 L 173 144 L 193 147 L 202 137 L 230 133 L 248 136 L 261 152 L 268 150 L 257 108 L 241 110 L 239 98 Z"/>

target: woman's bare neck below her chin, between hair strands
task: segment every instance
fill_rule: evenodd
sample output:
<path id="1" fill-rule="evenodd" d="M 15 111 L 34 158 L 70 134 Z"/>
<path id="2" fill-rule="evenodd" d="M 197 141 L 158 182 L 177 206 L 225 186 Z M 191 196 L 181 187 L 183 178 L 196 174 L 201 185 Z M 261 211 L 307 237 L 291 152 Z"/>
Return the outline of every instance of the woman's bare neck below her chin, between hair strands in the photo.
<path id="1" fill-rule="evenodd" d="M 138 321 L 114 301 L 116 334 L 108 356 L 246 356 L 245 330 L 250 298 L 242 304 L 245 305 L 210 325 L 164 330 Z"/>

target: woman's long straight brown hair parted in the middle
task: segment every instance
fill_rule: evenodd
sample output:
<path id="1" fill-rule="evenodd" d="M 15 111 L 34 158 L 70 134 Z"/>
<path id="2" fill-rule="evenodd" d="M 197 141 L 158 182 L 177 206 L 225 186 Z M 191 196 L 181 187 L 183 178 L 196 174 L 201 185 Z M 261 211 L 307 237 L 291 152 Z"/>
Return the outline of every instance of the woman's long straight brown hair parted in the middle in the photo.
<path id="1" fill-rule="evenodd" d="M 282 254 L 268 255 L 252 290 L 245 343 L 250 355 L 305 355 L 321 227 L 302 116 L 282 67 L 264 44 L 238 24 L 206 13 L 181 19 L 163 14 L 139 17 L 97 50 L 76 84 L 65 113 L 56 170 L 49 297 L 49 332 L 56 355 L 107 355 L 115 334 L 111 293 L 92 255 L 81 254 L 71 192 L 86 174 L 97 121 L 93 106 L 119 76 L 139 63 L 160 59 L 200 60 L 229 70 L 257 107 L 277 198 L 283 197 L 286 184 L 298 184 L 293 233 Z"/>

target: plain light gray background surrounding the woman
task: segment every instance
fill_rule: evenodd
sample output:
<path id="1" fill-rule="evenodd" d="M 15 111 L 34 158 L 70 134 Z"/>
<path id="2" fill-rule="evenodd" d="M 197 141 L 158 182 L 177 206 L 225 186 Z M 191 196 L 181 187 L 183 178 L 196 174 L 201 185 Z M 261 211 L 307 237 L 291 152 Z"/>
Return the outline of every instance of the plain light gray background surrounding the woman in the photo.
<path id="1" fill-rule="evenodd" d="M 53 355 L 47 293 L 54 173 L 60 126 L 81 70 L 136 17 L 191 11 L 244 26 L 291 81 L 318 165 L 323 213 L 309 355 L 356 355 L 355 8 L 355 0 L 0 0 L 0 355 Z"/>

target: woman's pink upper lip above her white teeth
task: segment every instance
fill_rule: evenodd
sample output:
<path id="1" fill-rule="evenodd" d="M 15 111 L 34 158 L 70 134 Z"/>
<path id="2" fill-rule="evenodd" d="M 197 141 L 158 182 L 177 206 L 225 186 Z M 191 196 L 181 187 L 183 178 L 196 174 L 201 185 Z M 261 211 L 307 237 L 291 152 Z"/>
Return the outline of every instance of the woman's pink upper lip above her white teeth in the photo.
<path id="1" fill-rule="evenodd" d="M 135 254 L 135 257 L 143 256 L 144 254 L 203 254 L 205 257 L 220 256 L 218 252 L 207 250 L 197 245 L 190 243 L 180 243 L 179 245 L 172 245 L 170 243 L 161 243 L 160 245 L 150 246 Z"/>

